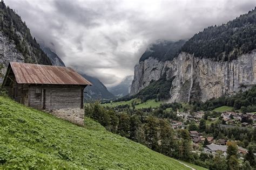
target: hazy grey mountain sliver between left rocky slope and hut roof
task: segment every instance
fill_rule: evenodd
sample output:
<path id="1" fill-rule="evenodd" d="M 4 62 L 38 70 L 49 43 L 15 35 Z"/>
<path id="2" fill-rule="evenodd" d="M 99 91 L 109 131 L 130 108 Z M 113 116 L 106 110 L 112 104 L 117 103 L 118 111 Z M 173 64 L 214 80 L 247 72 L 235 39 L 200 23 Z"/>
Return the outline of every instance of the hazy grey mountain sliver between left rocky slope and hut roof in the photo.
<path id="1" fill-rule="evenodd" d="M 55 52 L 53 52 L 51 48 L 46 47 L 43 42 L 39 42 L 39 44 L 40 44 L 40 47 L 43 49 L 43 51 L 48 55 L 52 65 L 65 67 L 65 64 L 62 61 L 62 59 L 60 59 L 59 56 Z"/>

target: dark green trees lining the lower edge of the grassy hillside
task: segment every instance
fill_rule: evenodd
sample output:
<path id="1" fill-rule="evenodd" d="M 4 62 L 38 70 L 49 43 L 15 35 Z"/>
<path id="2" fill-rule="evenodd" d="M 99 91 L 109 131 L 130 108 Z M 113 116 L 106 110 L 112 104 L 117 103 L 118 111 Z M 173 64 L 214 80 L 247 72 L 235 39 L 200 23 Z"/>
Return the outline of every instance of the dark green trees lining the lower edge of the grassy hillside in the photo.
<path id="1" fill-rule="evenodd" d="M 200 154 L 191 152 L 192 142 L 188 130 L 173 130 L 170 125 L 170 118 L 158 118 L 162 115 L 160 109 L 152 111 L 152 114 L 145 114 L 142 110 L 135 110 L 126 114 L 116 112 L 111 108 L 104 108 L 96 102 L 85 104 L 84 110 L 85 116 L 99 122 L 110 132 L 120 134 L 120 136 L 129 138 L 167 156 L 210 169 L 232 169 L 233 161 L 237 162 L 237 154 L 235 154 L 235 157 L 231 157 L 233 154 L 230 154 L 230 157 L 225 159 L 221 154 L 213 158 L 212 155 L 203 152 Z M 217 128 L 215 130 L 215 126 L 213 128 L 214 130 L 211 130 L 213 133 L 219 131 Z M 200 121 L 199 131 L 204 132 L 207 129 L 208 126 L 206 126 L 204 120 Z M 256 134 L 254 135 L 256 136 Z M 252 148 L 254 149 L 254 147 Z M 228 161 L 232 163 L 227 164 Z M 245 164 L 248 167 L 254 165 L 250 164 L 254 162 L 254 159 L 249 164 L 246 161 L 242 166 L 235 165 L 240 169 L 243 169 L 242 167 Z"/>

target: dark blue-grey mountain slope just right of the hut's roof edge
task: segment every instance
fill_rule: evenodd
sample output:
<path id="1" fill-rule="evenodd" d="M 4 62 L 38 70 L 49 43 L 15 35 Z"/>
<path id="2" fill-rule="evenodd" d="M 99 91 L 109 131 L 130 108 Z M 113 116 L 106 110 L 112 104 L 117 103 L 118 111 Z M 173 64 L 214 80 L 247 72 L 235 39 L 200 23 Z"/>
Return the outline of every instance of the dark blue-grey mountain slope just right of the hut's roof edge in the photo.
<path id="1" fill-rule="evenodd" d="M 93 85 L 87 86 L 84 91 L 85 100 L 102 100 L 102 99 L 110 99 L 116 98 L 112 93 L 107 90 L 102 82 L 95 77 L 91 77 L 86 74 L 82 74 L 86 80 L 89 80 Z"/>

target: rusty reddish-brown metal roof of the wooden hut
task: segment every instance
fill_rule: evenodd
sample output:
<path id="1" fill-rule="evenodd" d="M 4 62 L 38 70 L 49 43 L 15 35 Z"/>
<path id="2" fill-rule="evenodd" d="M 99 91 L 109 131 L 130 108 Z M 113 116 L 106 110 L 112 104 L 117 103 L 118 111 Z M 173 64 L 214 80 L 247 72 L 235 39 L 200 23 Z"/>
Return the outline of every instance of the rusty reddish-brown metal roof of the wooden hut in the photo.
<path id="1" fill-rule="evenodd" d="M 20 84 L 69 84 L 92 85 L 69 67 L 36 65 L 32 63 L 10 62 L 17 83 Z"/>

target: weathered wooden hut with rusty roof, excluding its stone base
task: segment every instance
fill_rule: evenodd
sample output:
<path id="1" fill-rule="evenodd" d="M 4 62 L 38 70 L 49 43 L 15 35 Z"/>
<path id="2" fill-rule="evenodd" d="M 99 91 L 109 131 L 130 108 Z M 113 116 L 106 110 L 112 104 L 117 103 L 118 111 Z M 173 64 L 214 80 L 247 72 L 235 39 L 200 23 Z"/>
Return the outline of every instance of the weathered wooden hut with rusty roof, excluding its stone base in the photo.
<path id="1" fill-rule="evenodd" d="M 10 62 L 2 86 L 15 101 L 36 109 L 83 108 L 92 85 L 69 67 Z"/>

